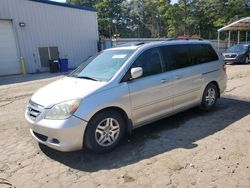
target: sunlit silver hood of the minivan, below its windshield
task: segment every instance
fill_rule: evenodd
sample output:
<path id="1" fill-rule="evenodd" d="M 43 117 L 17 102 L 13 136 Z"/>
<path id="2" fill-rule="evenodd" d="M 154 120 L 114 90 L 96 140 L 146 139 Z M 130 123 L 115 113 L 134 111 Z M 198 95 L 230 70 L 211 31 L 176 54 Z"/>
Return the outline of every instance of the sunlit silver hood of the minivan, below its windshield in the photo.
<path id="1" fill-rule="evenodd" d="M 64 77 L 39 89 L 31 100 L 45 108 L 50 108 L 64 101 L 83 98 L 105 84 L 106 82 Z"/>

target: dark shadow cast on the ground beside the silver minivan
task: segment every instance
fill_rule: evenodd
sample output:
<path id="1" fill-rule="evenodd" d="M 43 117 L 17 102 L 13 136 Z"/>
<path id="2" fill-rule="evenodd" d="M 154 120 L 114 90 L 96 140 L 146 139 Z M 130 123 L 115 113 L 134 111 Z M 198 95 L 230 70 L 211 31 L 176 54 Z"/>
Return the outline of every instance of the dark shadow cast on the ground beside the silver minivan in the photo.
<path id="1" fill-rule="evenodd" d="M 196 141 L 223 130 L 250 114 L 250 102 L 221 98 L 211 112 L 197 108 L 134 130 L 114 151 L 94 154 L 90 151 L 62 153 L 40 145 L 50 158 L 86 172 L 115 169 L 148 159 L 176 148 L 192 149 Z"/>

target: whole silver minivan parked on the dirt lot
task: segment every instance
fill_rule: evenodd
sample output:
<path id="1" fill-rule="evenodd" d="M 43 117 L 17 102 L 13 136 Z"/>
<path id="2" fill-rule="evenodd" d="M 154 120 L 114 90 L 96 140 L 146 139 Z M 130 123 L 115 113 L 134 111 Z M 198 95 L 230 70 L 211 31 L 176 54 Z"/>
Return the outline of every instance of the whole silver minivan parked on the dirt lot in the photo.
<path id="1" fill-rule="evenodd" d="M 209 42 L 139 43 L 104 50 L 39 89 L 25 117 L 31 135 L 51 148 L 105 152 L 137 127 L 195 106 L 212 109 L 226 83 Z"/>

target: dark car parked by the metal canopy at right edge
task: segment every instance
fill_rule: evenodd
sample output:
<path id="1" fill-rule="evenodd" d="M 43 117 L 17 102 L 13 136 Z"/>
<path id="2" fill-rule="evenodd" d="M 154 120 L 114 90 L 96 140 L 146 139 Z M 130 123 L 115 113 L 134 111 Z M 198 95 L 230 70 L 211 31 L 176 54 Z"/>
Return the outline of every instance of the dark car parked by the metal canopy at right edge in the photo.
<path id="1" fill-rule="evenodd" d="M 237 44 L 223 53 L 225 63 L 245 63 L 250 61 L 250 44 Z"/>

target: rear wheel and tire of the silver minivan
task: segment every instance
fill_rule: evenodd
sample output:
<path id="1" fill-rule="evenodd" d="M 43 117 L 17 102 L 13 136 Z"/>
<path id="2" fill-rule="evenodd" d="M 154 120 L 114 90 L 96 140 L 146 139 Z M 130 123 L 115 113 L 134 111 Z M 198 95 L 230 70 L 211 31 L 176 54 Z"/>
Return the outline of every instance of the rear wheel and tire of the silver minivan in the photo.
<path id="1" fill-rule="evenodd" d="M 219 96 L 219 90 L 217 86 L 213 83 L 208 84 L 202 96 L 200 109 L 204 111 L 208 111 L 214 108 L 216 105 L 218 96 Z"/>

